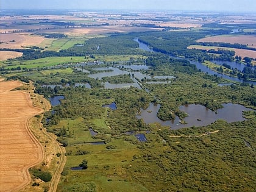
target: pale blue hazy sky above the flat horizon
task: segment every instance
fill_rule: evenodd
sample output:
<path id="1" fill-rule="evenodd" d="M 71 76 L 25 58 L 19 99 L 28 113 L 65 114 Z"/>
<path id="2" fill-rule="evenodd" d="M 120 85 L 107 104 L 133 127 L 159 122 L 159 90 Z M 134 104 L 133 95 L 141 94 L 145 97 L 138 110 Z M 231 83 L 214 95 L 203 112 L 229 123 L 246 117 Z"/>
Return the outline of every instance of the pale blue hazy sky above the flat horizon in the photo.
<path id="1" fill-rule="evenodd" d="M 142 9 L 256 12 L 256 0 L 0 0 L 0 9 Z"/>

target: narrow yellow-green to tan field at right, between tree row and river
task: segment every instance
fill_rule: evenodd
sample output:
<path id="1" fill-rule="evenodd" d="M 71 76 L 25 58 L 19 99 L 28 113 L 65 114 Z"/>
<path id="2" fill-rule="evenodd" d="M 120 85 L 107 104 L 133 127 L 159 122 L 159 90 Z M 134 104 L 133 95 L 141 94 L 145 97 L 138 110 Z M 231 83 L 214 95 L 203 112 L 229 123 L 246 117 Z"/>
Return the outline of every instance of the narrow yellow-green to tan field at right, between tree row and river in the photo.
<path id="1" fill-rule="evenodd" d="M 202 46 L 202 45 L 191 45 L 188 46 L 188 49 L 202 49 L 202 50 L 209 50 L 209 49 L 227 49 L 235 51 L 235 55 L 241 56 L 241 57 L 252 57 L 256 58 L 256 51 L 247 50 L 247 49 L 235 49 L 235 48 L 222 48 L 217 46 Z"/>

